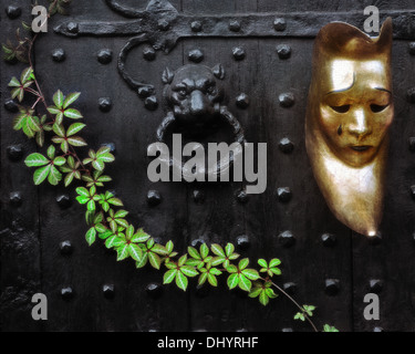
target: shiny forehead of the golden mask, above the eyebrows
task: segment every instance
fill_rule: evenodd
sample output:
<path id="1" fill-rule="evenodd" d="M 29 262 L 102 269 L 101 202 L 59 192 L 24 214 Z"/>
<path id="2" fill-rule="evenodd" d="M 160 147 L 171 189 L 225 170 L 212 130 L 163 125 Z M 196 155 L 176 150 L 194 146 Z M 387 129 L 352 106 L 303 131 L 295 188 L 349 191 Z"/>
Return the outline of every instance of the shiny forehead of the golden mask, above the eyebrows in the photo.
<path id="1" fill-rule="evenodd" d="M 387 63 L 380 59 L 325 61 L 320 77 L 322 93 L 347 91 L 354 86 L 391 90 Z"/>

